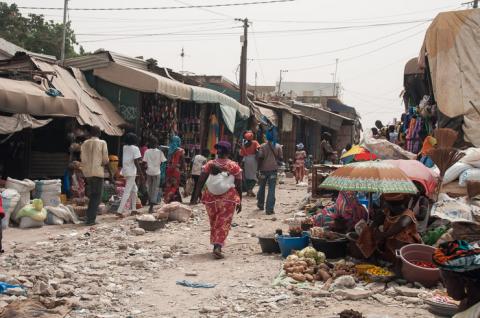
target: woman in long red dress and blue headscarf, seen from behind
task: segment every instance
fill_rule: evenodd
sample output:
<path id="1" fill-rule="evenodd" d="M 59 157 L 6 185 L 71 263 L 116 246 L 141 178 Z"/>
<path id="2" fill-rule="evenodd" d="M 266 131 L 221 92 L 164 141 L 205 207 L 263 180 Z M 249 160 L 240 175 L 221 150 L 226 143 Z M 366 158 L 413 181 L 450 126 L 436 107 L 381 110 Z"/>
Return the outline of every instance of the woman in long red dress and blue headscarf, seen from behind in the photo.
<path id="1" fill-rule="evenodd" d="M 181 174 L 185 171 L 185 150 L 180 148 L 182 140 L 178 136 L 172 136 L 168 144 L 167 171 L 165 180 L 165 203 L 182 202 L 180 195 Z"/>

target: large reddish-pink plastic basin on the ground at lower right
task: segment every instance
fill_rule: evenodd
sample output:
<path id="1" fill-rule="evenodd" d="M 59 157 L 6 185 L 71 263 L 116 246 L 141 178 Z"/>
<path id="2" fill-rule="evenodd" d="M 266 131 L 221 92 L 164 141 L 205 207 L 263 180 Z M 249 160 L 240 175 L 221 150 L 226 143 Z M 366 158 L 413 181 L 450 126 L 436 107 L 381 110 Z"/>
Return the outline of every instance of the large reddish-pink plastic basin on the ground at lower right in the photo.
<path id="1" fill-rule="evenodd" d="M 402 260 L 402 275 L 407 281 L 417 282 L 425 287 L 433 287 L 440 280 L 438 268 L 423 268 L 412 264 L 412 261 L 424 261 L 433 263 L 435 248 L 423 244 L 405 245 L 397 250 L 397 257 Z"/>

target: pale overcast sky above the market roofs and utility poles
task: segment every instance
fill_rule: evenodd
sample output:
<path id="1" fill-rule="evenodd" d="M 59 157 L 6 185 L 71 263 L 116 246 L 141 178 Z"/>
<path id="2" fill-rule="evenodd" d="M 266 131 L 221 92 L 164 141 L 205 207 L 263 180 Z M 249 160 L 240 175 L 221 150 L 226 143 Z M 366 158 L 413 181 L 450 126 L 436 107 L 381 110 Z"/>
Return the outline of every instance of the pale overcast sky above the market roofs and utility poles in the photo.
<path id="1" fill-rule="evenodd" d="M 71 8 L 185 6 L 253 0 L 70 0 Z M 6 1 L 19 6 L 63 7 L 63 0 Z M 212 9 L 70 11 L 78 42 L 195 74 L 224 75 L 237 82 L 241 23 L 248 17 L 248 82 L 331 82 L 335 60 L 342 99 L 368 127 L 388 123 L 402 111 L 398 95 L 403 68 L 418 55 L 429 22 L 438 12 L 461 9 L 465 0 L 295 0 Z M 61 21 L 62 11 L 43 13 Z M 152 35 L 155 34 L 155 35 Z M 101 35 L 100 35 L 101 34 Z M 281 58 L 281 59 L 279 59 Z"/>

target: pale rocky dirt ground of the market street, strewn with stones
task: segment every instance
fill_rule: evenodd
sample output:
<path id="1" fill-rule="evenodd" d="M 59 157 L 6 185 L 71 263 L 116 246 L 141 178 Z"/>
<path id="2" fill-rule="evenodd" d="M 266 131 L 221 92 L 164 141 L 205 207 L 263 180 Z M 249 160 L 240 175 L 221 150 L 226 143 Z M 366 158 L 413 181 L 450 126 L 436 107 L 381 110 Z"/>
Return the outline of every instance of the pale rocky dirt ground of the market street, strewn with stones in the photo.
<path id="1" fill-rule="evenodd" d="M 200 205 L 188 223 L 169 223 L 157 232 L 138 231 L 133 218 L 113 216 L 102 216 L 94 227 L 8 229 L 0 281 L 26 289 L 0 294 L 0 308 L 28 298 L 61 308 L 59 317 L 68 318 L 337 317 L 344 309 L 375 318 L 434 317 L 417 297 L 422 289 L 397 283 L 330 291 L 272 287 L 282 259 L 261 254 L 256 236 L 287 230 L 282 221 L 305 195 L 306 188 L 287 180 L 279 186 L 274 216 L 245 199 L 224 260 L 211 257 L 208 219 Z M 215 287 L 183 287 L 179 280 Z"/>

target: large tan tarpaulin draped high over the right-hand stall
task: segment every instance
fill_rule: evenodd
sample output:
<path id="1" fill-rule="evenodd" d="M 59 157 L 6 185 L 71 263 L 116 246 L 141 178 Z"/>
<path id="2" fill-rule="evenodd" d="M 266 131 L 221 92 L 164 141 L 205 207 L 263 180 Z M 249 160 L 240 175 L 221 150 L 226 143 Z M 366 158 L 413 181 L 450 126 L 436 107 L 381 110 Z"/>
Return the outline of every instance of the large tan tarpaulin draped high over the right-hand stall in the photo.
<path id="1" fill-rule="evenodd" d="M 464 116 L 465 139 L 480 146 L 480 9 L 443 12 L 427 30 L 419 56 L 425 57 L 439 110 Z"/>

